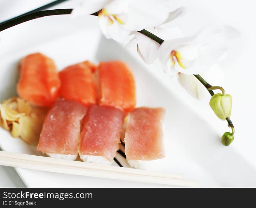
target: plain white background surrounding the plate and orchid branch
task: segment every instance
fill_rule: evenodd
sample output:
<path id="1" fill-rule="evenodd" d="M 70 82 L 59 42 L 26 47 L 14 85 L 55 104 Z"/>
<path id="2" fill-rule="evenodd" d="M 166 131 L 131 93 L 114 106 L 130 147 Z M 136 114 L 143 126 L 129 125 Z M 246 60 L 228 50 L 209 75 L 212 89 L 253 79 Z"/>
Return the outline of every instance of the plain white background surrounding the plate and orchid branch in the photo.
<path id="1" fill-rule="evenodd" d="M 51 1 L 48 0 L 0 0 L 0 22 L 22 14 Z M 72 8 L 77 1 L 68 1 L 54 8 Z M 186 26 L 181 25 L 184 33 L 197 31 L 208 23 L 230 25 L 237 28 L 241 38 L 230 48 L 227 60 L 222 63 L 225 70 L 223 87 L 233 97 L 232 122 L 236 133 L 232 143 L 237 151 L 243 153 L 256 168 L 256 136 L 255 136 L 255 46 L 256 46 L 256 2 L 251 0 L 180 0 L 188 7 L 188 15 L 184 18 Z M 211 83 L 218 85 L 218 83 Z M 219 121 L 209 113 L 209 100 L 195 101 L 185 91 L 182 98 L 191 102 L 195 110 L 209 117 L 216 128 L 227 130 L 226 123 Z M 228 148 L 228 147 L 227 147 Z M 0 167 L 0 186 L 24 186 L 13 168 Z"/>

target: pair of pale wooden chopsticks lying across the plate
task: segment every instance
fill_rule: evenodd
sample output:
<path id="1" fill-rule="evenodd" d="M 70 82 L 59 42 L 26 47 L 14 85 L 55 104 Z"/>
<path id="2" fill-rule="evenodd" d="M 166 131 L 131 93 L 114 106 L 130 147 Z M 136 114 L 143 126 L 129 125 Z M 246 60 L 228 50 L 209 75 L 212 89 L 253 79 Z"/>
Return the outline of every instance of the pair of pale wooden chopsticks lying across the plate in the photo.
<path id="1" fill-rule="evenodd" d="M 69 161 L 29 154 L 0 151 L 0 165 L 55 173 L 120 179 L 174 186 L 197 186 L 195 181 L 183 180 L 183 176 L 171 173 L 156 173 L 134 168 L 107 166 L 81 161 Z"/>

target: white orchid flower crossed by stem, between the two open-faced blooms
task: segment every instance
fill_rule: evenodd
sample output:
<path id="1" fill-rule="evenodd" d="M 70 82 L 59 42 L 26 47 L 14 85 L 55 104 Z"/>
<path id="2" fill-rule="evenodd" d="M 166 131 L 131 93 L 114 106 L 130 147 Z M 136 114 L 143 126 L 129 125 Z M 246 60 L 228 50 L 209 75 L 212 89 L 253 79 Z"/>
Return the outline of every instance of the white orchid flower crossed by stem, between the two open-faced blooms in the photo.
<path id="1" fill-rule="evenodd" d="M 159 38 L 167 39 L 167 38 L 181 38 L 183 37 L 182 32 L 177 27 L 168 28 L 166 27 L 167 23 L 173 22 L 175 19 L 178 19 L 185 13 L 185 8 L 181 7 L 169 13 L 168 18 L 160 25 L 154 26 L 152 28 L 147 28 L 146 30 L 150 33 L 153 33 Z M 135 38 L 137 42 L 137 51 L 138 54 L 141 56 L 142 60 L 146 64 L 151 64 L 154 60 L 158 57 L 158 50 L 159 50 L 159 43 L 155 42 L 151 38 L 147 36 L 135 32 Z"/>

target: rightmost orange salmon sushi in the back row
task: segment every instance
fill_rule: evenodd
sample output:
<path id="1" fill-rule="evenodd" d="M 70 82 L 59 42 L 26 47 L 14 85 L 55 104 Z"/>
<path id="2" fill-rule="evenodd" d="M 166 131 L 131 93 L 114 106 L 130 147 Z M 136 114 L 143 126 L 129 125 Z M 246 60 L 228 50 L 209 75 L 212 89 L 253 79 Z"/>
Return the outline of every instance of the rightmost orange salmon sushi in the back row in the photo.
<path id="1" fill-rule="evenodd" d="M 129 112 L 136 105 L 135 81 L 127 67 L 121 61 L 99 63 L 95 72 L 98 92 L 98 104 L 114 106 Z"/>

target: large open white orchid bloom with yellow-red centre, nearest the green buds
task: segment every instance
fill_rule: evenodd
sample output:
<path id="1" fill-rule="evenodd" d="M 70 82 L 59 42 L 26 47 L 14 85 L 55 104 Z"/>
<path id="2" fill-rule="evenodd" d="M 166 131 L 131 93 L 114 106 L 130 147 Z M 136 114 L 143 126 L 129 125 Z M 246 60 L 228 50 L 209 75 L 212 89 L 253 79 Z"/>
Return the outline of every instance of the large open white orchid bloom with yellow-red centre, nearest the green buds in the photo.
<path id="1" fill-rule="evenodd" d="M 227 51 L 226 41 L 237 36 L 231 27 L 206 27 L 193 37 L 164 41 L 159 59 L 170 75 L 200 74 L 218 62 Z"/>

